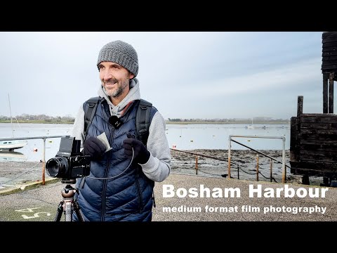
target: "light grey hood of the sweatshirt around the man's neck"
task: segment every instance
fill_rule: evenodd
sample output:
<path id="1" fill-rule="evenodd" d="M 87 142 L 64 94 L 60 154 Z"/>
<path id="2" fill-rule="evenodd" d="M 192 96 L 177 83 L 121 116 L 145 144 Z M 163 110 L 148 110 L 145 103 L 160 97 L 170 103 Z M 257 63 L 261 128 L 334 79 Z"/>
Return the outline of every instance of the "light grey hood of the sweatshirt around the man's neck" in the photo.
<path id="1" fill-rule="evenodd" d="M 118 105 L 113 105 L 112 102 L 109 99 L 109 96 L 107 96 L 107 93 L 105 93 L 105 89 L 103 88 L 103 85 L 100 85 L 100 88 L 98 89 L 98 96 L 101 98 L 105 98 L 107 100 L 107 104 L 110 108 L 111 115 L 116 115 L 117 117 L 121 117 L 121 112 L 124 110 L 126 105 L 130 103 L 133 100 L 139 100 L 140 99 L 140 90 L 139 90 L 139 81 L 137 78 L 133 78 L 130 80 L 130 91 L 128 91 L 128 94 L 126 97 L 121 100 L 121 102 Z"/>

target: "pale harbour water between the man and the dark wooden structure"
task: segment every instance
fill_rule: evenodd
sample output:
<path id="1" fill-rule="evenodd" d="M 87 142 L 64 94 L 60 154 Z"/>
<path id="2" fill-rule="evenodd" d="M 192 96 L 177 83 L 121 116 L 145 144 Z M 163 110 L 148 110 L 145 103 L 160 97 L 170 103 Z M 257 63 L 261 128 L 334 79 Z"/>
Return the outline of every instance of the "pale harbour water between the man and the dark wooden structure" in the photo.
<path id="1" fill-rule="evenodd" d="M 230 135 L 285 137 L 285 148 L 290 148 L 289 124 L 254 124 L 252 129 L 246 124 L 168 124 L 166 136 L 170 148 L 180 150 L 228 149 Z M 234 138 L 235 141 L 256 150 L 282 150 L 281 139 Z M 232 142 L 232 149 L 244 150 L 244 146 Z"/>

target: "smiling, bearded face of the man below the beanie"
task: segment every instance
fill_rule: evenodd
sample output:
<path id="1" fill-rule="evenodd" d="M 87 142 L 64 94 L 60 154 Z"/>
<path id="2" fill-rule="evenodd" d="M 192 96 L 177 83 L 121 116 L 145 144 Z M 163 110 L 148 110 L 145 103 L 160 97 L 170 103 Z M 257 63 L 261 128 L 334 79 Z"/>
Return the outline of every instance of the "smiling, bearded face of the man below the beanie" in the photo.
<path id="1" fill-rule="evenodd" d="M 107 93 L 112 98 L 124 98 L 129 91 L 129 81 L 134 77 L 125 67 L 117 63 L 102 62 L 98 65 L 100 81 Z"/>

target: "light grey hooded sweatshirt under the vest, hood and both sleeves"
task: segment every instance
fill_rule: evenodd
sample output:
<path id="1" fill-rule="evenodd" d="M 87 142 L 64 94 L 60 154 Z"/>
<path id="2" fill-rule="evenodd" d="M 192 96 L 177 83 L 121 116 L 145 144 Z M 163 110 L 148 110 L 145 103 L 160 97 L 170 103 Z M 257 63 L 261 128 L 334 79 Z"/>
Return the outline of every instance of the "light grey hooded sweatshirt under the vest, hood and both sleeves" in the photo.
<path id="1" fill-rule="evenodd" d="M 114 106 L 103 86 L 98 89 L 98 96 L 105 98 L 110 108 L 111 115 L 121 116 L 121 112 L 125 106 L 133 101 L 140 99 L 140 90 L 138 79 L 134 78 L 130 82 L 130 91 L 121 102 Z M 171 152 L 169 143 L 166 138 L 166 124 L 164 117 L 157 111 L 150 124 L 149 137 L 147 139 L 147 150 L 150 152 L 150 159 L 146 164 L 140 164 L 145 176 L 156 182 L 164 181 L 170 174 L 171 170 Z M 84 110 L 83 105 L 80 106 L 79 112 L 74 122 L 72 137 L 81 140 L 81 148 L 84 143 Z"/>

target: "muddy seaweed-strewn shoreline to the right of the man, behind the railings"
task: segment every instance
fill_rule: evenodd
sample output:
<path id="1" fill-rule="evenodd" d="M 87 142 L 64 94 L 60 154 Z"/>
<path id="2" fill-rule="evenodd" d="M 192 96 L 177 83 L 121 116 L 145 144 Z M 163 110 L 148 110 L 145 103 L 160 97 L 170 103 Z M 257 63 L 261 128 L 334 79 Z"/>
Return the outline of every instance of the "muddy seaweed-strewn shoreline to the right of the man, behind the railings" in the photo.
<path id="1" fill-rule="evenodd" d="M 185 151 L 185 150 L 182 150 Z M 279 162 L 264 155 L 258 155 L 253 150 L 231 150 L 230 176 L 233 179 L 244 179 L 249 181 L 282 182 L 282 150 L 258 150 L 265 155 L 275 158 Z M 227 177 L 228 176 L 228 150 L 188 150 L 189 153 L 171 149 L 171 172 L 176 174 Z M 190 153 L 197 153 L 193 155 Z M 203 157 L 201 155 L 206 155 Z M 259 166 L 258 178 L 256 176 L 257 160 Z M 302 175 L 293 175 L 290 172 L 290 150 L 285 150 L 286 161 L 286 183 L 302 183 Z M 270 174 L 270 167 L 272 173 Z M 272 179 L 272 180 L 270 180 Z M 310 185 L 320 186 L 323 178 L 310 176 Z"/>

